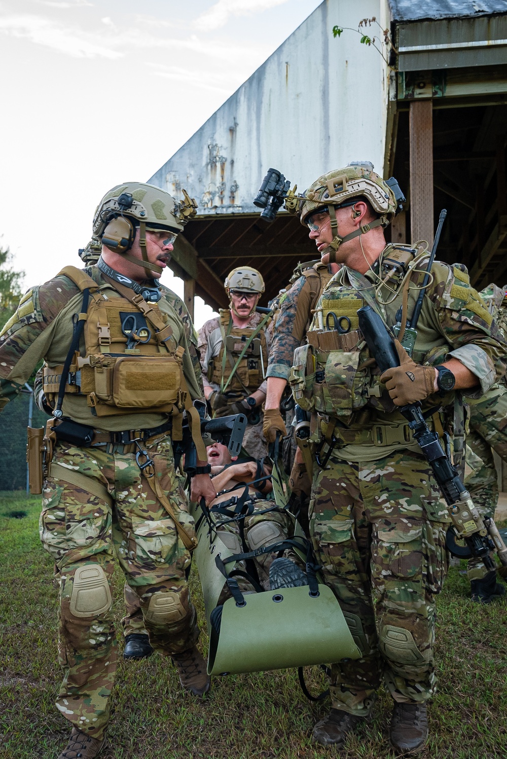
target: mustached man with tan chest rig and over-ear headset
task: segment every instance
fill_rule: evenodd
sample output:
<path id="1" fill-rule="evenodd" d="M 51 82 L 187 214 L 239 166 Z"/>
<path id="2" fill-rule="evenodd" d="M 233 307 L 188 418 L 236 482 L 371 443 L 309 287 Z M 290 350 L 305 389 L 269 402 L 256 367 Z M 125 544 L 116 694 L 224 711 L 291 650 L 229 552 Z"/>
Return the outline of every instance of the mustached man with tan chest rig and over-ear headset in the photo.
<path id="1" fill-rule="evenodd" d="M 148 184 L 113 188 L 93 223 L 98 265 L 68 266 L 28 291 L 0 335 L 2 407 L 43 357 L 43 391 L 55 409 L 40 532 L 60 589 L 57 707 L 73 726 L 59 759 L 95 757 L 105 740 L 117 658 L 115 554 L 153 648 L 172 657 L 184 688 L 209 689 L 185 579 L 194 524 L 171 438 L 184 409 L 196 420 L 191 398 L 202 398 L 197 340 L 157 282 L 192 213 L 187 196 L 176 203 Z M 210 502 L 198 420 L 193 427 L 202 468 L 191 495 Z"/>

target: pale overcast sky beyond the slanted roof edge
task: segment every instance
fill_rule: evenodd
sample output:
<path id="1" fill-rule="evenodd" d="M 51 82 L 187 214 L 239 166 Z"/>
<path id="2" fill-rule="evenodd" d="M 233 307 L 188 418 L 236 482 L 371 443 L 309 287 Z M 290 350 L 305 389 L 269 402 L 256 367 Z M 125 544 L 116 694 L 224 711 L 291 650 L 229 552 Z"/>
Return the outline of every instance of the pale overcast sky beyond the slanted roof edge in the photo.
<path id="1" fill-rule="evenodd" d="M 79 266 L 102 195 L 152 176 L 320 2 L 0 0 L 0 244 L 24 287 Z"/>

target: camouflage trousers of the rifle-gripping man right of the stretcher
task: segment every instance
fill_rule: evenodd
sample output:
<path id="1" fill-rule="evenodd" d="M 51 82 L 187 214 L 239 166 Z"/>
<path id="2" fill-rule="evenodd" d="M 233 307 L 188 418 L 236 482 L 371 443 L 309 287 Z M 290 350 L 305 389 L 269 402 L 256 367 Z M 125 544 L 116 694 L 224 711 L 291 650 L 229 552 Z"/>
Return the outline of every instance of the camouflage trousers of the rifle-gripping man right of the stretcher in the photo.
<path id="1" fill-rule="evenodd" d="M 382 678 L 398 702 L 433 694 L 434 596 L 447 570 L 447 519 L 422 455 L 331 458 L 316 471 L 310 502 L 316 558 L 363 653 L 332 666 L 336 709 L 367 716 Z"/>

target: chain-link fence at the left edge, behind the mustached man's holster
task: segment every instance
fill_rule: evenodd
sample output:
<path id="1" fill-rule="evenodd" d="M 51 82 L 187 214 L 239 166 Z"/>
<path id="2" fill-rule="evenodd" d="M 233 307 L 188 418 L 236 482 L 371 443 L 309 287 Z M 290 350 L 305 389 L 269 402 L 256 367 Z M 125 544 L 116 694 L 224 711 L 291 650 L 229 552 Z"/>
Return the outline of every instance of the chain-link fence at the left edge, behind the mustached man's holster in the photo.
<path id="1" fill-rule="evenodd" d="M 27 490 L 27 427 L 46 427 L 47 414 L 27 384 L 0 417 L 0 490 Z"/>

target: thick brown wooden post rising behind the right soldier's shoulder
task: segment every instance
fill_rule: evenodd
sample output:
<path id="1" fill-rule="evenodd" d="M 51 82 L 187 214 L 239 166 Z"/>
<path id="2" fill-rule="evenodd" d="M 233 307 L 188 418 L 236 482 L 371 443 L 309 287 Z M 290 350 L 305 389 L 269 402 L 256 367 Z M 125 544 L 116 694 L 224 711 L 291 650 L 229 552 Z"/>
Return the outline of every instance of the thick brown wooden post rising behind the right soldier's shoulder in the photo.
<path id="1" fill-rule="evenodd" d="M 433 245 L 433 103 L 410 104 L 411 241 Z"/>

